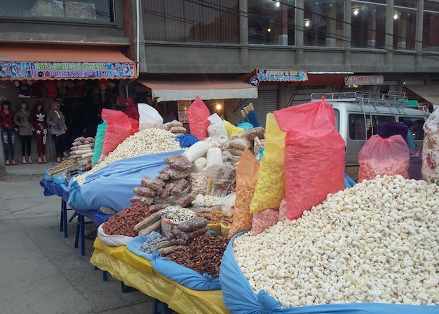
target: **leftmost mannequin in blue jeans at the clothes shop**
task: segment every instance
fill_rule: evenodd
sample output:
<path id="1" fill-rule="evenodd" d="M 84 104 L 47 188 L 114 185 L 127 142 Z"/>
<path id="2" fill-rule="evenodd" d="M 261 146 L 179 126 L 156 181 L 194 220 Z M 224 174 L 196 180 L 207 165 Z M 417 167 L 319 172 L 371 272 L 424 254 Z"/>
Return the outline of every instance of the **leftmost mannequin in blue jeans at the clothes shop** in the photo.
<path id="1" fill-rule="evenodd" d="M 1 102 L 0 127 L 1 138 L 4 146 L 6 166 L 15 163 L 15 132 L 17 126 L 13 122 L 14 112 L 11 110 L 11 102 L 4 100 Z M 9 154 L 11 153 L 11 158 Z"/>

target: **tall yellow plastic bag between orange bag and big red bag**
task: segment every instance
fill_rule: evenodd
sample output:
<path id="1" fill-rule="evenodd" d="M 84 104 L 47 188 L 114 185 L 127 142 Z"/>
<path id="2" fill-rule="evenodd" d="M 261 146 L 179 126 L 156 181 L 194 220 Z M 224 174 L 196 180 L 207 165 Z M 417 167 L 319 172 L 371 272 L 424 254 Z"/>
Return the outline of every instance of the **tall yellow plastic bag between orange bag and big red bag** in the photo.
<path id="1" fill-rule="evenodd" d="M 285 135 L 273 113 L 266 115 L 266 144 L 257 173 L 257 185 L 250 204 L 250 213 L 266 208 L 278 209 L 285 199 L 285 173 L 283 171 Z"/>

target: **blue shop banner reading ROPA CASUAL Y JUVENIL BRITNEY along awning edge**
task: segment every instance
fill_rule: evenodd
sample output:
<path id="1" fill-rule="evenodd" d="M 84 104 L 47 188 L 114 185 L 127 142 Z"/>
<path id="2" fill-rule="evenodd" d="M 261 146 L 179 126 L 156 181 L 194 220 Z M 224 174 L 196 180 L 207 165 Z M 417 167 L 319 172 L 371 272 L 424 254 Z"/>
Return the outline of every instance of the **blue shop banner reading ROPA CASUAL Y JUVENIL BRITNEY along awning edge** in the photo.
<path id="1" fill-rule="evenodd" d="M 135 78 L 132 62 L 1 62 L 1 78 Z"/>

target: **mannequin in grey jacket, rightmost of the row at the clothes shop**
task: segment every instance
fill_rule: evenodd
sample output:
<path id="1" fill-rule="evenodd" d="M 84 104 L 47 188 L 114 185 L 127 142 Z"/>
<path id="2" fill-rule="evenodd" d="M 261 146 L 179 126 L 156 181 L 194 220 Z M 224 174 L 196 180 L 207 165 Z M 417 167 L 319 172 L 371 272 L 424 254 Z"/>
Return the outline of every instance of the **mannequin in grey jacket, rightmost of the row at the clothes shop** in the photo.
<path id="1" fill-rule="evenodd" d="M 47 122 L 50 127 L 50 134 L 52 134 L 53 141 L 55 141 L 56 161 L 61 162 L 61 159 L 64 160 L 67 125 L 65 124 L 64 114 L 60 111 L 60 105 L 56 101 L 53 101 L 50 106 Z"/>

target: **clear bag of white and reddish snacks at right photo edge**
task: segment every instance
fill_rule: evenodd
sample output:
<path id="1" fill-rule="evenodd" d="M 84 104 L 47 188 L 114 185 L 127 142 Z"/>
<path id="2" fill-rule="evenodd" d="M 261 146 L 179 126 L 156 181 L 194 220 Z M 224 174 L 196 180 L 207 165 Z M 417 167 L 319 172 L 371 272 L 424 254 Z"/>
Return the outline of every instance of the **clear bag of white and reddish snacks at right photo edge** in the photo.
<path id="1" fill-rule="evenodd" d="M 422 148 L 422 179 L 439 185 L 439 110 L 431 113 L 424 124 L 424 145 Z"/>

